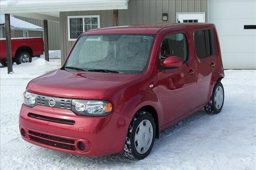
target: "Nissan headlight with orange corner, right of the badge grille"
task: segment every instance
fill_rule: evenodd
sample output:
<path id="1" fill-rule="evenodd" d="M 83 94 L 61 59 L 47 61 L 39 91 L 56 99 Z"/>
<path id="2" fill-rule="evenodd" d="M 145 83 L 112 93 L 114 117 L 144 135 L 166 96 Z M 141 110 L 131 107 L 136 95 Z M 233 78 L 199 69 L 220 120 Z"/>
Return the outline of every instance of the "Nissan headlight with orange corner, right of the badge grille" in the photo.
<path id="1" fill-rule="evenodd" d="M 78 115 L 104 116 L 112 111 L 108 101 L 72 99 L 72 111 Z"/>

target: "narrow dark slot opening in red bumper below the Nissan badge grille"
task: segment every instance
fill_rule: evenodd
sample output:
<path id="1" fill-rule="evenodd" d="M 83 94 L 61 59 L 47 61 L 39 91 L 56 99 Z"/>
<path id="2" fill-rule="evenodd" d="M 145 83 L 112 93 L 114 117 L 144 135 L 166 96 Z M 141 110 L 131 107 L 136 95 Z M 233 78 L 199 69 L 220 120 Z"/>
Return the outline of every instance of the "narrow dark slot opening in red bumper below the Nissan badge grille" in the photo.
<path id="1" fill-rule="evenodd" d="M 40 119 L 40 120 L 44 120 L 44 121 L 55 122 L 55 123 L 62 123 L 62 124 L 66 124 L 66 125 L 75 125 L 75 123 L 76 123 L 73 120 L 59 119 L 59 118 L 55 118 L 55 117 L 37 115 L 37 114 L 34 114 L 34 113 L 28 113 L 28 117 L 32 117 L 32 118 Z"/>

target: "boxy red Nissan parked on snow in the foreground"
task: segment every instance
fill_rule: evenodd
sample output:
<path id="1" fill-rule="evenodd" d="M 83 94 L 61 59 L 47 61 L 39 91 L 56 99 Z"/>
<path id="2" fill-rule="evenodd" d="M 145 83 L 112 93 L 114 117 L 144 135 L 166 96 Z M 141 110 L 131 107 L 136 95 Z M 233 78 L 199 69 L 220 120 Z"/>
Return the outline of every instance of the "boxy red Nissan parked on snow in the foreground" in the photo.
<path id="1" fill-rule="evenodd" d="M 63 66 L 30 81 L 24 140 L 83 156 L 148 156 L 160 131 L 201 108 L 220 113 L 224 69 L 214 24 L 84 32 Z M 163 136 L 164 138 L 164 136 Z"/>

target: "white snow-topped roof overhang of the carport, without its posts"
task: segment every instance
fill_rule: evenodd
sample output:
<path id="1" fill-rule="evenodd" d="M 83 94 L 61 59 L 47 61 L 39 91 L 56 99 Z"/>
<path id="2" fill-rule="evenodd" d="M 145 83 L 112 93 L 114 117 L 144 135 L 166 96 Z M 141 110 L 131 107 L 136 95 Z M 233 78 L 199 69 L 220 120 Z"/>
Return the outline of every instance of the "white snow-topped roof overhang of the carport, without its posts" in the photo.
<path id="1" fill-rule="evenodd" d="M 0 11 L 59 22 L 60 12 L 128 9 L 128 0 L 3 0 Z"/>

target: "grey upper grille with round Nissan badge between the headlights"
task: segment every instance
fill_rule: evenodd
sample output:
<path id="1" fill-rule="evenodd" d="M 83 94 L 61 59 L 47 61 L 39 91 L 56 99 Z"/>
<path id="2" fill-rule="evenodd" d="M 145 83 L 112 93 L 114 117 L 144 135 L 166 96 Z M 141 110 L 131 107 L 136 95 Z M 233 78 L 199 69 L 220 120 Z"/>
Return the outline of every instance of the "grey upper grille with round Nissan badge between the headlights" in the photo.
<path id="1" fill-rule="evenodd" d="M 55 101 L 54 106 L 50 106 L 49 100 L 53 99 Z M 47 107 L 55 107 L 59 109 L 68 109 L 71 110 L 71 102 L 72 99 L 65 99 L 61 97 L 51 97 L 51 96 L 44 96 L 44 95 L 37 95 L 37 104 Z"/>

